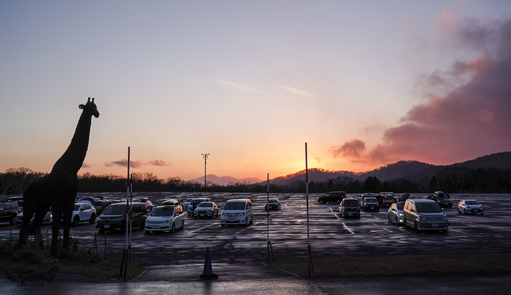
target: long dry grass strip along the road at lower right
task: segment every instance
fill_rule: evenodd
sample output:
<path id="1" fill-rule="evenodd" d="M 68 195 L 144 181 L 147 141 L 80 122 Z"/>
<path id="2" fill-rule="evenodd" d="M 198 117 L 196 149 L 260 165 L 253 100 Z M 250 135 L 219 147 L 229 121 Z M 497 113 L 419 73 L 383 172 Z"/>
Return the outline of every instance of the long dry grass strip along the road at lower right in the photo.
<path id="1" fill-rule="evenodd" d="M 308 277 L 307 259 L 284 259 L 269 266 Z M 370 277 L 511 273 L 511 253 L 314 258 L 313 277 Z"/>

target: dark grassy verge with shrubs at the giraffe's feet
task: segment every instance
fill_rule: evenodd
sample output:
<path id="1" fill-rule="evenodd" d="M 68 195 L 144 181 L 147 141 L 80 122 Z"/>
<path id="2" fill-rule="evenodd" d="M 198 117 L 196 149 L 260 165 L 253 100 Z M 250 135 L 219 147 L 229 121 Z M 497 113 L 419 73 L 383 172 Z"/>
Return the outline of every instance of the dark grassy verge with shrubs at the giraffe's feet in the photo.
<path id="1" fill-rule="evenodd" d="M 27 246 L 18 247 L 15 242 L 7 242 L 0 246 L 0 263 L 9 267 L 19 267 L 34 270 L 56 270 L 58 273 L 97 277 L 105 279 L 120 279 L 121 262 L 104 260 L 102 255 L 92 254 L 78 247 L 78 241 L 70 238 L 69 249 L 52 257 L 49 251 L 34 249 L 34 242 Z M 49 249 L 47 246 L 45 249 Z M 60 250 L 60 249 L 59 249 Z M 128 265 L 127 279 L 134 279 L 144 271 L 137 264 Z"/>

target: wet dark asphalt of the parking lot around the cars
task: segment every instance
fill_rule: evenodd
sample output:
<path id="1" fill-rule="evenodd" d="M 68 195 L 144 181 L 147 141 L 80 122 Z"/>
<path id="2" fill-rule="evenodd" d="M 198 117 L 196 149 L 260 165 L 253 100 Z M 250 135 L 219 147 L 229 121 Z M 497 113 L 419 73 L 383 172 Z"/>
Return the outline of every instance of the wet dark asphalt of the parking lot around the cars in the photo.
<path id="1" fill-rule="evenodd" d="M 86 193 L 79 196 L 103 195 L 121 199 L 126 193 Z M 149 197 L 153 203 L 160 199 L 179 196 L 211 197 L 219 207 L 227 199 L 250 198 L 253 203 L 253 224 L 248 226 L 220 226 L 218 218 L 194 219 L 185 216 L 184 231 L 175 233 L 132 232 L 132 261 L 142 265 L 203 263 L 206 246 L 211 249 L 213 263 L 260 263 L 267 261 L 267 213 L 264 210 L 266 194 L 234 193 L 133 193 L 133 197 Z M 325 256 L 380 256 L 429 255 L 460 253 L 501 253 L 511 251 L 511 195 L 451 195 L 453 208 L 446 208 L 450 228 L 447 234 L 426 232 L 416 234 L 404 226 L 387 224 L 387 210 L 361 212 L 360 219 L 343 219 L 337 213 L 337 204 L 319 204 L 318 194 L 309 196 L 310 243 L 314 257 Z M 358 194 L 347 194 L 358 196 Z M 425 198 L 412 194 L 411 198 Z M 307 214 L 305 194 L 270 194 L 281 200 L 282 209 L 270 211 L 269 238 L 275 258 L 307 258 Z M 461 199 L 476 199 L 484 206 L 484 215 L 458 214 L 456 206 Z M 45 225 L 43 231 L 51 232 Z M 17 238 L 18 228 L 0 223 L 0 238 Z M 94 236 L 103 253 L 106 238 L 106 256 L 120 260 L 125 247 L 121 233 L 98 234 L 94 224 L 81 223 L 71 229 L 80 239 L 80 245 L 91 248 Z"/>

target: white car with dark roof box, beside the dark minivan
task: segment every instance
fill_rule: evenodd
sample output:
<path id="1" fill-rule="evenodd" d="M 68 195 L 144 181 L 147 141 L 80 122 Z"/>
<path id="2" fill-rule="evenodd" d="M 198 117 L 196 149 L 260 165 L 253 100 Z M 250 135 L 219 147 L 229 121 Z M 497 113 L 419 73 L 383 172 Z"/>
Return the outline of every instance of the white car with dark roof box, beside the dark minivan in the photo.
<path id="1" fill-rule="evenodd" d="M 169 231 L 173 233 L 179 226 L 184 230 L 184 213 L 181 206 L 158 206 L 151 211 L 145 221 L 145 233 Z"/>

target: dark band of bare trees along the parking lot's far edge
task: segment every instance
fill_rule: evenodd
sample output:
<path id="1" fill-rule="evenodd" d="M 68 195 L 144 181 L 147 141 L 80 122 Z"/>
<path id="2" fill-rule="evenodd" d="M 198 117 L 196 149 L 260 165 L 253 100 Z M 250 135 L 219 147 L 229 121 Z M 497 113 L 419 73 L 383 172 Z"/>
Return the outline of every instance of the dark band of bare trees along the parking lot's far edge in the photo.
<path id="1" fill-rule="evenodd" d="M 0 174 L 0 195 L 22 194 L 34 180 L 48 173 L 33 171 L 26 167 L 9 168 Z M 94 175 L 88 172 L 78 175 L 79 192 L 124 192 L 127 187 L 126 176 L 114 174 Z M 267 183 L 247 183 L 246 181 L 220 186 L 206 181 L 183 180 L 180 177 L 160 179 L 151 172 L 132 173 L 135 192 L 233 192 L 266 193 Z M 287 185 L 275 185 L 270 182 L 269 192 L 305 193 L 304 180 L 291 181 Z M 395 193 L 511 193 L 511 170 L 470 169 L 449 167 L 436 172 L 436 175 L 423 183 L 405 178 L 381 181 L 376 176 L 368 176 L 364 181 L 350 176 L 338 176 L 325 181 L 310 181 L 309 193 L 345 191 L 347 193 L 395 192 Z"/>

